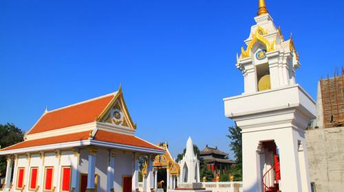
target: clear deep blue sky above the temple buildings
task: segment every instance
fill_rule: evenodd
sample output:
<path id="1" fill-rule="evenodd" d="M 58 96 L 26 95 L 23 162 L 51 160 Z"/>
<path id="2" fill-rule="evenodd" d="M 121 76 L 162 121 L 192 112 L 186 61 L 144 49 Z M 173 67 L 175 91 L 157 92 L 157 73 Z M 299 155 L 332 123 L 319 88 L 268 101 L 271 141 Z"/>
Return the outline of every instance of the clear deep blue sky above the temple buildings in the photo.
<path id="1" fill-rule="evenodd" d="M 243 91 L 235 56 L 257 2 L 0 1 L 0 123 L 28 130 L 45 106 L 121 82 L 138 136 L 167 141 L 173 155 L 188 136 L 230 152 L 222 99 Z M 344 63 L 344 2 L 266 3 L 285 38 L 292 32 L 297 82 L 315 98 L 316 82 Z"/>

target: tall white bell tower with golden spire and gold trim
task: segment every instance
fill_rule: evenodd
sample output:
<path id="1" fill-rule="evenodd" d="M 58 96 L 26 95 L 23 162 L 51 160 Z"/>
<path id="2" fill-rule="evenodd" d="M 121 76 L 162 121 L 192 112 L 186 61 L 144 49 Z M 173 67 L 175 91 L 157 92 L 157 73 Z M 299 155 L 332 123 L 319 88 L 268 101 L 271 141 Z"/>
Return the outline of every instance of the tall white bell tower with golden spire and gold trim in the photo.
<path id="1" fill-rule="evenodd" d="M 315 118 L 315 102 L 296 84 L 293 40 L 283 39 L 264 0 L 255 21 L 237 56 L 244 93 L 224 99 L 226 117 L 242 130 L 243 188 L 310 191 L 305 129 Z"/>

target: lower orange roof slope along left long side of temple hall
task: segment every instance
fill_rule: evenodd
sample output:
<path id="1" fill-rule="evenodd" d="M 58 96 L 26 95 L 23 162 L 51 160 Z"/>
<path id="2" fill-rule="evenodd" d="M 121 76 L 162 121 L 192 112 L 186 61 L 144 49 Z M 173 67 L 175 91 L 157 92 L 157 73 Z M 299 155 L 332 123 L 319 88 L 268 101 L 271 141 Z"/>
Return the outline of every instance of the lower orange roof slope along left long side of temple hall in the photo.
<path id="1" fill-rule="evenodd" d="M 56 144 L 56 143 L 66 143 L 66 142 L 71 142 L 71 141 L 83 141 L 83 140 L 88 139 L 88 137 L 89 137 L 89 131 L 77 132 L 77 133 L 72 133 L 72 134 L 64 134 L 64 135 L 59 135 L 59 136 L 50 136 L 43 139 L 23 141 L 21 143 L 17 143 L 9 147 L 3 148 L 0 151 L 8 151 L 12 149 L 36 147 L 36 146 L 50 145 L 50 144 Z"/>

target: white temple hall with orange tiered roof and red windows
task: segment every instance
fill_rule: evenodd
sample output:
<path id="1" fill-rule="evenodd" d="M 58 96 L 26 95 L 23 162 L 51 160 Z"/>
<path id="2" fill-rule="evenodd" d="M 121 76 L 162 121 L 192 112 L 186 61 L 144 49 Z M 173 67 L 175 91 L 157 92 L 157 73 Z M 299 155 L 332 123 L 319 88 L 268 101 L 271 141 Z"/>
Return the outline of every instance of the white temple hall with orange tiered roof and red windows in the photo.
<path id="1" fill-rule="evenodd" d="M 135 136 L 120 88 L 115 93 L 45 110 L 24 141 L 0 150 L 7 157 L 4 191 L 122 191 L 138 189 L 138 160 L 153 160 L 162 147 Z M 144 191 L 145 192 L 145 191 Z"/>

